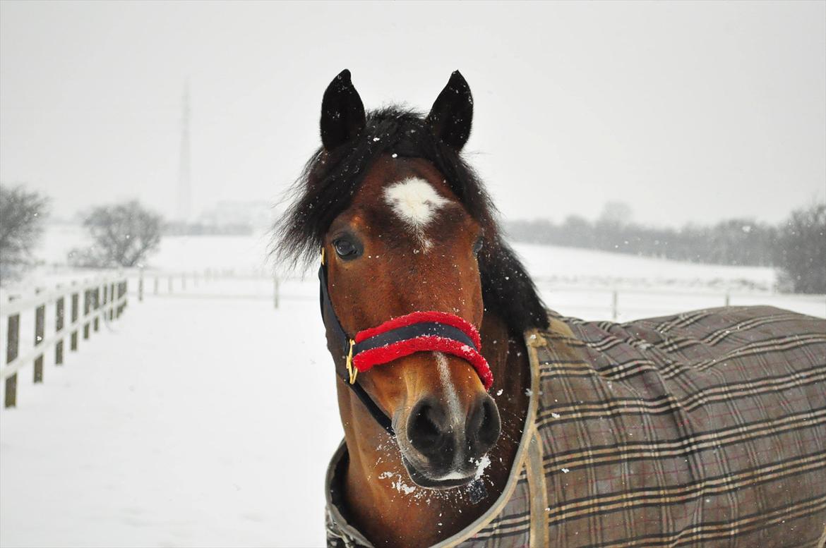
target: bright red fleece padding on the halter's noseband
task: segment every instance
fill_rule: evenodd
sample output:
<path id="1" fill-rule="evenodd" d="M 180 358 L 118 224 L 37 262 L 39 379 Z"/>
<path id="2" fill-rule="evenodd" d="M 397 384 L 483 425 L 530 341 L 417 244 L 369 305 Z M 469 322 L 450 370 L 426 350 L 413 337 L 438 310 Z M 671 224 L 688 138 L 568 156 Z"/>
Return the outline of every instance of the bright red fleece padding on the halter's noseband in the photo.
<path id="1" fill-rule="evenodd" d="M 410 356 L 415 352 L 444 352 L 468 361 L 476 370 L 479 379 L 482 380 L 485 390 L 490 390 L 491 385 L 493 385 L 493 373 L 491 373 L 490 366 L 487 365 L 487 360 L 479 353 L 482 350 L 482 339 L 479 338 L 479 331 L 470 322 L 454 314 L 447 312 L 413 312 L 387 320 L 387 322 L 377 327 L 359 331 L 356 334 L 355 342 L 361 343 L 368 338 L 387 333 L 392 329 L 425 322 L 446 324 L 461 330 L 472 340 L 476 348 L 469 347 L 467 344 L 460 343 L 452 338 L 425 335 L 359 352 L 353 357 L 353 365 L 359 372 L 363 372 L 369 371 L 373 366 L 379 366 L 400 357 Z"/>

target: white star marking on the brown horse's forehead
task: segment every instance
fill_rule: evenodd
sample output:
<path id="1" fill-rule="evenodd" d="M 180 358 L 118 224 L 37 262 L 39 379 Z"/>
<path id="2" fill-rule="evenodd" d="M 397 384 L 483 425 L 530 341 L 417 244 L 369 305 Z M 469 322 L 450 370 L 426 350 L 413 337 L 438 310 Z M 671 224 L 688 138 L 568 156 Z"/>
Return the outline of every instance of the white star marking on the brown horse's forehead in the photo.
<path id="1" fill-rule="evenodd" d="M 425 227 L 436 212 L 450 201 L 439 196 L 429 182 L 419 177 L 408 177 L 384 189 L 384 199 L 393 213 L 406 224 L 425 251 L 433 245 L 425 238 Z"/>

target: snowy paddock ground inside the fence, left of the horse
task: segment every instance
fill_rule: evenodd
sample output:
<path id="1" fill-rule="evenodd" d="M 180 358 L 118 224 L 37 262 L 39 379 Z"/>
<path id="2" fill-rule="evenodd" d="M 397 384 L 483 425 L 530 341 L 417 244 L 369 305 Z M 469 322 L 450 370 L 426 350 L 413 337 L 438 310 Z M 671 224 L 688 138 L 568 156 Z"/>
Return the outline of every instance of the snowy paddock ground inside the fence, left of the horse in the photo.
<path id="1" fill-rule="evenodd" d="M 132 301 L 0 413 L 2 546 L 323 546 L 341 438 L 317 307 Z"/>

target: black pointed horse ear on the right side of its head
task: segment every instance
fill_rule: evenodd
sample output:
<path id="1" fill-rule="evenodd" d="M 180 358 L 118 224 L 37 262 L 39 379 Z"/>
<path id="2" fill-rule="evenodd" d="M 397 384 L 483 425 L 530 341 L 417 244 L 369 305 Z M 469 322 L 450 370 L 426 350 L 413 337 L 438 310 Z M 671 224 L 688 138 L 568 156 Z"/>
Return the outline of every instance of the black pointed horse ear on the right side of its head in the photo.
<path id="1" fill-rule="evenodd" d="M 427 124 L 436 137 L 458 152 L 468 142 L 472 121 L 473 96 L 468 82 L 457 70 L 436 97 Z"/>

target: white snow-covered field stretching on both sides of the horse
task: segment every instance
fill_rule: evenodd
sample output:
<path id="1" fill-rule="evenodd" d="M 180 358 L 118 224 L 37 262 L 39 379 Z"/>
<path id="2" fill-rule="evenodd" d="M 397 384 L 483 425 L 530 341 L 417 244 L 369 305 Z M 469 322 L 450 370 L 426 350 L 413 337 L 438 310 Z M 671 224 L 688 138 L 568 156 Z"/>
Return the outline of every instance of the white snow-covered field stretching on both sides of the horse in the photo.
<path id="1" fill-rule="evenodd" d="M 81 276 L 50 265 L 82 240 L 50 229 L 48 264 L 4 293 Z M 0 412 L 0 545 L 323 546 L 325 466 L 342 434 L 317 281 L 282 281 L 275 309 L 266 244 L 164 239 L 143 302 L 133 279 L 121 319 L 64 366 L 49 353 L 44 384 L 21 370 L 18 408 Z M 723 305 L 726 293 L 826 317 L 823 297 L 773 294 L 768 268 L 516 249 L 563 314 L 610 319 L 618 289 L 619 320 Z M 226 276 L 181 286 L 181 272 L 206 269 Z M 171 295 L 166 275 L 154 295 L 153 272 L 178 273 Z"/>

